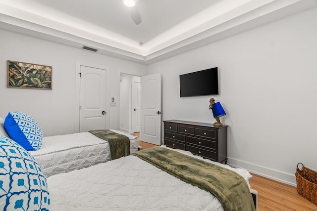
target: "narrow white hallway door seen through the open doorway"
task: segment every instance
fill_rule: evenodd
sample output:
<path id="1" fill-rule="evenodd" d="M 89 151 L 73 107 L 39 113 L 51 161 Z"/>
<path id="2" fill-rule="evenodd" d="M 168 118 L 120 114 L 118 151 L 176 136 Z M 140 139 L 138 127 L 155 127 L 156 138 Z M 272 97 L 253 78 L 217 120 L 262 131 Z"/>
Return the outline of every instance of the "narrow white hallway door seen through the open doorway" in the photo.
<path id="1" fill-rule="evenodd" d="M 132 84 L 132 131 L 140 132 L 141 126 L 141 84 Z"/>

